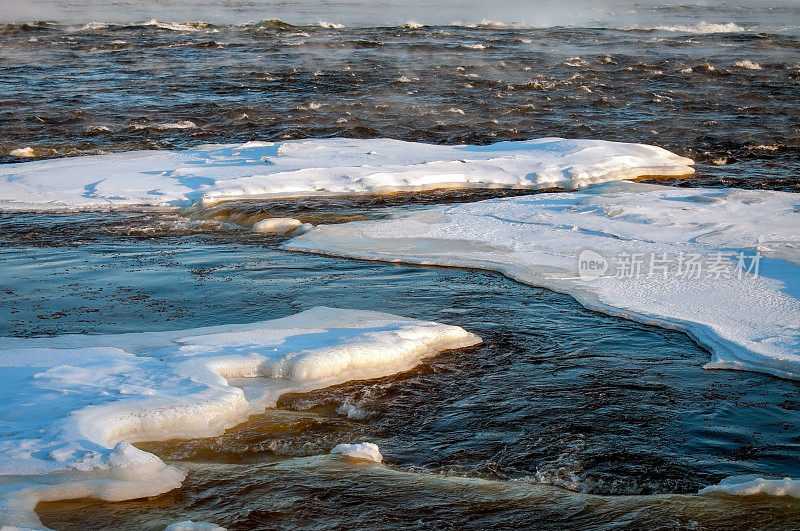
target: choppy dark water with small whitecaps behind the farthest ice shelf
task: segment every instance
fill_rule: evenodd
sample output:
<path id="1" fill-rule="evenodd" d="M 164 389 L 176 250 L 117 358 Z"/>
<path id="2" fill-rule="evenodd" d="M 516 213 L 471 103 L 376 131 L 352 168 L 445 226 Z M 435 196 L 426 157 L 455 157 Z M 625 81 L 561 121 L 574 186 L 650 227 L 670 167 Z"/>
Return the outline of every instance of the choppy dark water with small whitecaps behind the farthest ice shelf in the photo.
<path id="1" fill-rule="evenodd" d="M 67 4 L 68 22 L 0 26 L 0 160 L 25 146 L 54 157 L 252 139 L 563 136 L 663 146 L 699 162 L 692 184 L 800 189 L 796 3 L 627 6 L 587 26 L 574 25 L 576 10 L 546 27 L 514 24 L 511 9 L 497 15 L 509 24 L 450 25 L 468 13 L 453 7 L 416 27 L 380 9 L 356 16 L 352 2 L 216 17 L 184 4 L 162 13 L 178 23 L 131 22 L 153 16 L 146 3 L 118 16 Z M 287 22 L 258 22 L 276 13 Z M 203 14 L 210 21 L 187 23 Z M 129 21 L 92 22 L 120 17 Z M 320 18 L 355 23 L 303 25 Z"/>

